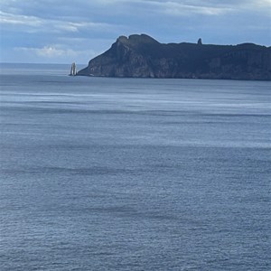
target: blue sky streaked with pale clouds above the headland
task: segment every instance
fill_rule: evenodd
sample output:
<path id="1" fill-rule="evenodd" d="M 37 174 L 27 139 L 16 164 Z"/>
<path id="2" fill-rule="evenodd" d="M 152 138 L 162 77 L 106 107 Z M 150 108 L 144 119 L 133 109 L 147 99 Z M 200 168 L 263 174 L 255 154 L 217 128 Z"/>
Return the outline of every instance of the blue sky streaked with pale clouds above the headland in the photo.
<path id="1" fill-rule="evenodd" d="M 0 0 L 0 62 L 88 64 L 120 35 L 271 45 L 271 0 Z"/>

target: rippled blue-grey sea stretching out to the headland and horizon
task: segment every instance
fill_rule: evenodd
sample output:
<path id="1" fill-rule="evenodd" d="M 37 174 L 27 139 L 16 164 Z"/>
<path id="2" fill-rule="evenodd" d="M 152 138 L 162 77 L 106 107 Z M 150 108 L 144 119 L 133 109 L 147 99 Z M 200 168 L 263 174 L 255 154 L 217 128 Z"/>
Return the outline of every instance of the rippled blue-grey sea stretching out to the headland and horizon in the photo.
<path id="1" fill-rule="evenodd" d="M 0 269 L 270 270 L 271 83 L 1 65 Z"/>

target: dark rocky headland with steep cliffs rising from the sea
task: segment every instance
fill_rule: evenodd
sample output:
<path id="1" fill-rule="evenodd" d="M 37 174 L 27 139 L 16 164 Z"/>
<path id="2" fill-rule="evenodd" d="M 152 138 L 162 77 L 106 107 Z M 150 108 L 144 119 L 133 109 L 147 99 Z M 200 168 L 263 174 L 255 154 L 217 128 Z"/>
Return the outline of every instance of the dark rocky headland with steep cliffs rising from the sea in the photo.
<path id="1" fill-rule="evenodd" d="M 271 47 L 252 43 L 160 43 L 120 36 L 78 75 L 134 78 L 271 79 Z"/>

